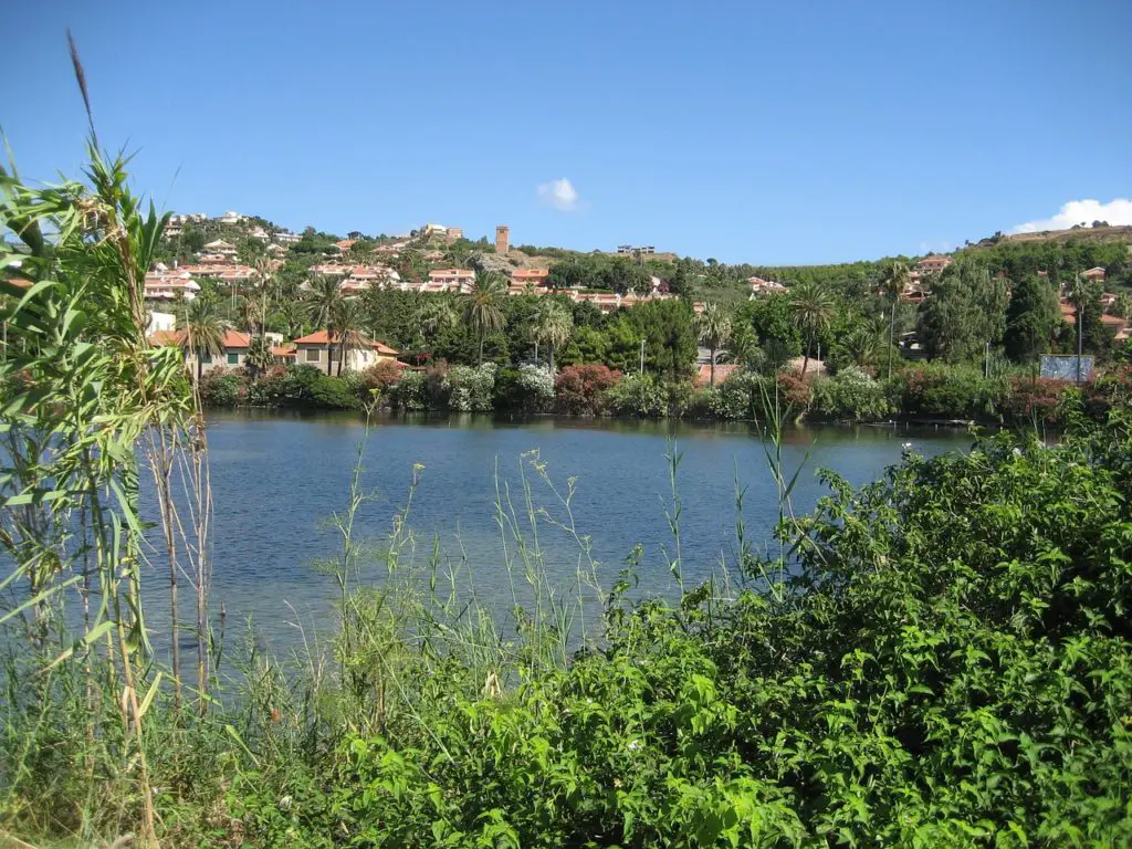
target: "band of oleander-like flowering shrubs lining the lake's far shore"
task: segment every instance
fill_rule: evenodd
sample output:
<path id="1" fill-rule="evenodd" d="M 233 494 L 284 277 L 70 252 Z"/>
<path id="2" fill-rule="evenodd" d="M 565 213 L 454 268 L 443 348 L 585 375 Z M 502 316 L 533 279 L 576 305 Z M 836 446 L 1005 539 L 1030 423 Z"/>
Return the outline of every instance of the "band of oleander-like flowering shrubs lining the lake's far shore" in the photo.
<path id="1" fill-rule="evenodd" d="M 856 367 L 832 377 L 734 371 L 715 387 L 664 383 L 649 374 L 621 375 L 603 366 L 567 366 L 551 376 L 544 366 L 500 369 L 439 363 L 404 370 L 379 363 L 341 377 L 310 366 L 274 366 L 204 374 L 206 408 L 292 410 L 377 409 L 394 412 L 555 414 L 689 421 L 758 422 L 778 398 L 784 417 L 813 423 L 927 423 L 1062 427 L 1078 414 L 1104 421 L 1127 404 L 1132 367 L 1114 367 L 1081 386 L 1034 376 L 986 377 L 978 369 L 909 363 L 889 380 Z"/>

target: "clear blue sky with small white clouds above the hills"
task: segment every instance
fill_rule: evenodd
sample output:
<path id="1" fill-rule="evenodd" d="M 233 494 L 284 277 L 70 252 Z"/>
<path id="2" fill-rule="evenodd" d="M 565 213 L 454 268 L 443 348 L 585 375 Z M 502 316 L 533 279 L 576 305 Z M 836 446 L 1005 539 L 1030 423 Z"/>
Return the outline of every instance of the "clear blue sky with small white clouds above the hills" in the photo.
<path id="1" fill-rule="evenodd" d="M 178 212 L 760 264 L 1132 223 L 1125 0 L 9 3 L 26 178 L 82 161 L 67 26 Z"/>

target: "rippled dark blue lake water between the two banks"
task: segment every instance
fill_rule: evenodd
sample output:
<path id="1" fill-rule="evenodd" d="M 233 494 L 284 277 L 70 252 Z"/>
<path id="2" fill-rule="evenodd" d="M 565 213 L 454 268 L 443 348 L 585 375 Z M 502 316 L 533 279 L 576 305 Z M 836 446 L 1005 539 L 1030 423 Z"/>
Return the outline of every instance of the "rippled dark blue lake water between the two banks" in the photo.
<path id="1" fill-rule="evenodd" d="M 744 522 L 756 549 L 770 543 L 778 518 L 763 443 L 744 424 L 674 427 L 554 418 L 506 422 L 466 415 L 385 419 L 367 435 L 365 422 L 352 414 L 250 411 L 212 413 L 208 438 L 215 503 L 214 609 L 224 601 L 230 628 L 251 617 L 257 635 L 275 648 L 297 638 L 297 617 L 308 626 L 331 621 L 335 584 L 315 564 L 341 544 L 326 520 L 348 506 L 361 444 L 361 486 L 375 497 L 361 507 L 355 535 L 376 543 L 387 538 L 419 465 L 408 522 L 417 540 L 410 559 L 423 566 L 435 537 L 444 563 L 470 569 L 480 601 L 500 607 L 509 606 L 512 597 L 497 522 L 497 482 L 505 498 L 509 491 L 529 538 L 524 472 L 535 509 L 544 507 L 559 522 L 568 518 L 532 461 L 542 464 L 560 495 L 568 490 L 568 479 L 575 480 L 573 522 L 578 534 L 590 538 L 592 557 L 600 563 L 598 574 L 607 586 L 640 544 L 640 592 L 675 590 L 666 565 L 666 551 L 672 551 L 666 518 L 666 509 L 671 512 L 666 460 L 670 439 L 683 455 L 677 483 L 686 583 L 706 578 L 721 560 L 735 563 L 737 478 L 746 487 Z M 794 507 L 808 512 L 826 495 L 815 478 L 821 468 L 859 484 L 898 463 L 904 443 L 933 455 L 964 449 L 970 441 L 968 435 L 949 430 L 790 430 L 783 445 L 788 477 L 809 452 Z M 569 583 L 578 566 L 577 542 L 546 517 L 537 525 L 547 571 Z M 507 540 L 507 550 L 515 550 L 514 539 Z M 379 581 L 383 573 L 384 566 L 375 565 L 368 574 Z M 154 574 L 149 581 L 155 589 L 149 594 L 149 621 L 160 643 L 166 618 L 160 600 L 164 576 Z M 188 594 L 187 588 L 183 592 Z M 187 607 L 185 614 L 189 620 Z"/>

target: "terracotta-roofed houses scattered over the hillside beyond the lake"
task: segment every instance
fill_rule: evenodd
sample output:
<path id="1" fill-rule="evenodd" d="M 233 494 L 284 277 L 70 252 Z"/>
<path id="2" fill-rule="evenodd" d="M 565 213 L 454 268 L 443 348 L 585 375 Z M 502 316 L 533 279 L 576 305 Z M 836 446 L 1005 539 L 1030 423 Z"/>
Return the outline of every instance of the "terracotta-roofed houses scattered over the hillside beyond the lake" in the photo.
<path id="1" fill-rule="evenodd" d="M 220 232 L 222 235 L 203 242 L 197 250 L 174 256 L 171 261 L 154 264 L 145 278 L 148 333 L 155 344 L 175 344 L 186 349 L 186 362 L 192 374 L 203 374 L 204 369 L 214 368 L 245 368 L 252 345 L 250 333 L 229 328 L 223 335 L 221 350 L 197 351 L 187 344 L 187 329 L 178 324 L 177 305 L 183 307 L 192 301 L 204 284 L 229 293 L 233 306 L 238 299 L 254 298 L 266 282 L 280 273 L 299 249 L 305 235 L 274 226 L 261 218 L 230 211 L 216 217 L 201 213 L 171 215 L 164 229 L 164 238 L 170 245 L 183 242 L 182 237 L 194 231 Z M 310 238 L 309 233 L 306 238 Z M 243 252 L 255 256 L 241 256 L 238 242 L 245 246 Z M 359 246 L 365 246 L 361 252 Z M 456 250 L 460 246 L 473 249 Z M 406 261 L 410 256 L 415 264 Z M 646 260 L 650 264 L 654 261 L 657 249 L 652 246 L 620 245 L 611 252 L 611 257 L 616 261 L 643 266 Z M 479 268 L 504 278 L 508 295 L 554 294 L 571 303 L 592 305 L 603 316 L 677 297 L 669 284 L 654 273 L 643 276 L 641 284 L 625 291 L 593 289 L 578 283 L 563 285 L 560 281 L 556 283 L 551 268 L 558 260 L 530 257 L 513 248 L 507 225 L 496 228 L 492 242 L 481 239 L 475 243 L 465 239 L 462 228 L 438 223 L 423 224 L 402 235 L 372 240 L 366 239 L 361 233 L 351 233 L 345 239 L 326 241 L 314 259 L 316 261 L 309 261 L 305 266 L 306 278 L 299 284 L 300 294 L 308 294 L 320 281 L 333 281 L 345 300 L 360 298 L 371 290 L 466 297 L 472 291 Z M 462 261 L 453 261 L 455 259 Z M 953 261 L 954 258 L 949 254 L 921 257 L 907 269 L 900 286 L 899 302 L 909 308 L 918 308 L 931 297 L 933 283 Z M 1003 273 L 998 272 L 997 276 L 1002 277 Z M 1039 269 L 1037 276 L 1047 278 L 1048 273 Z M 1090 283 L 1104 285 L 1106 269 L 1091 267 L 1079 276 Z M 781 295 L 790 291 L 788 284 L 758 275 L 747 277 L 746 285 L 748 299 Z M 880 288 L 875 293 L 883 294 Z M 1077 310 L 1071 302 L 1065 280 L 1061 282 L 1058 300 L 1062 320 L 1073 325 Z M 1130 336 L 1129 318 L 1113 314 L 1116 300 L 1117 295 L 1113 292 L 1101 294 L 1104 315 L 1100 321 L 1114 342 L 1124 342 Z M 703 312 L 705 307 L 704 300 L 692 301 L 695 315 Z M 261 335 L 269 343 L 272 361 L 278 365 L 305 363 L 331 374 L 336 365 L 340 370 L 361 370 L 385 360 L 398 362 L 400 352 L 378 340 L 365 338 L 357 345 L 350 345 L 350 350 L 344 350 L 340 344 L 341 340 L 334 336 L 333 328 L 318 329 L 293 338 L 264 328 Z M 916 358 L 921 354 L 923 348 L 915 332 L 901 333 L 899 342 L 906 357 Z M 343 350 L 338 351 L 338 348 Z M 340 359 L 343 359 L 341 365 Z M 706 368 L 706 362 L 702 352 L 701 369 Z M 815 363 L 815 368 L 822 368 L 820 361 Z M 719 366 L 723 377 L 730 370 L 732 367 L 723 363 Z M 706 379 L 706 371 L 703 379 Z"/>

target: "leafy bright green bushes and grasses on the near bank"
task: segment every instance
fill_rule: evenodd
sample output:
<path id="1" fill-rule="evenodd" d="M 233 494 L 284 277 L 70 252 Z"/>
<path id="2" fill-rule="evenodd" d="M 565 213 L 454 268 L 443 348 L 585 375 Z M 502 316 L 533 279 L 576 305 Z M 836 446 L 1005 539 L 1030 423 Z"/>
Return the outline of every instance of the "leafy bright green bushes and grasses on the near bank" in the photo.
<path id="1" fill-rule="evenodd" d="M 155 702 L 161 821 L 252 846 L 1126 846 L 1130 471 L 1118 422 L 909 455 L 859 490 L 826 474 L 781 525 L 786 573 L 740 532 L 738 591 L 621 583 L 572 654 L 565 608 L 507 636 L 345 582 L 334 670 L 260 659 L 205 720 Z M 20 818 L 35 790 L 103 805 L 62 792 L 82 741 L 58 719 L 9 788 Z"/>

